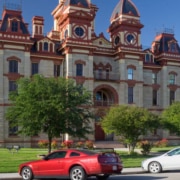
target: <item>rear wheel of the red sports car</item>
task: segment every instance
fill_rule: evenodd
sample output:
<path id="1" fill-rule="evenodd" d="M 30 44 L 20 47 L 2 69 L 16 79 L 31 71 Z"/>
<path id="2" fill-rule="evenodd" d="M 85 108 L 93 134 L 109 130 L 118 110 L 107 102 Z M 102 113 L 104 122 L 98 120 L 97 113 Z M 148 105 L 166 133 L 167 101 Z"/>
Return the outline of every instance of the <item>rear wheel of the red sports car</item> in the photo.
<path id="1" fill-rule="evenodd" d="M 81 166 L 75 166 L 70 171 L 71 180 L 86 180 L 87 175 Z"/>

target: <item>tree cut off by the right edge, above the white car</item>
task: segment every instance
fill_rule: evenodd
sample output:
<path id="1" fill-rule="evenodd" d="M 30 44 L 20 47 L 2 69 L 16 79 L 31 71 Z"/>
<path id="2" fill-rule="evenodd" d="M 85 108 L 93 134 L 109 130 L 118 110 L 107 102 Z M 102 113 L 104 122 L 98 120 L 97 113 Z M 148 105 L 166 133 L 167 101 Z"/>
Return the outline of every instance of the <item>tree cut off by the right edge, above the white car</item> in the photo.
<path id="1" fill-rule="evenodd" d="M 180 135 L 180 102 L 174 102 L 163 111 L 162 123 L 170 132 Z"/>

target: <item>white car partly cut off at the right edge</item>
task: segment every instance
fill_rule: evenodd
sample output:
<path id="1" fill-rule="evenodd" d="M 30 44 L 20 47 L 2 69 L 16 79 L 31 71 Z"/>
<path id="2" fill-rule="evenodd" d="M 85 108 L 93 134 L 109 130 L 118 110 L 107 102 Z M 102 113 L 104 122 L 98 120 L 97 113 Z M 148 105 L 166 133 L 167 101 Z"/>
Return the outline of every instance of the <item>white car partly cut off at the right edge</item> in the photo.
<path id="1" fill-rule="evenodd" d="M 180 147 L 157 157 L 148 158 L 141 163 L 142 169 L 150 173 L 165 170 L 180 170 Z"/>

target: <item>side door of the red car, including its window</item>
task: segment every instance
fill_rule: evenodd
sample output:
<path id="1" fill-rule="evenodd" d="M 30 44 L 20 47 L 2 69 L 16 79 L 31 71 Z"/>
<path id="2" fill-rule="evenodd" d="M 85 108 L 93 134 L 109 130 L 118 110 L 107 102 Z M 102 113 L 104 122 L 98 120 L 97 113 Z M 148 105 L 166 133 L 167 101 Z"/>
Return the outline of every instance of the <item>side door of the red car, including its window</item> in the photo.
<path id="1" fill-rule="evenodd" d="M 64 158 L 66 153 L 66 151 L 57 151 L 47 156 L 38 164 L 38 175 L 61 175 L 64 171 Z"/>

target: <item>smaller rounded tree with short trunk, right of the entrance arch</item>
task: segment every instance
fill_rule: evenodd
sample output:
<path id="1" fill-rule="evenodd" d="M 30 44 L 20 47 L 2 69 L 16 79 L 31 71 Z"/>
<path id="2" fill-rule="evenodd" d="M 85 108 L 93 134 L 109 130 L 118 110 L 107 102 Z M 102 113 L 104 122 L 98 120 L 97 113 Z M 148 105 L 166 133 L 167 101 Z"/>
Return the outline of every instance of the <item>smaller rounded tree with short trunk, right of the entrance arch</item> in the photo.
<path id="1" fill-rule="evenodd" d="M 123 138 L 129 151 L 133 152 L 140 135 L 158 127 L 158 116 L 136 106 L 119 105 L 111 107 L 100 121 L 106 133 Z"/>

